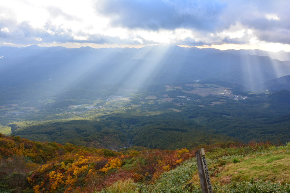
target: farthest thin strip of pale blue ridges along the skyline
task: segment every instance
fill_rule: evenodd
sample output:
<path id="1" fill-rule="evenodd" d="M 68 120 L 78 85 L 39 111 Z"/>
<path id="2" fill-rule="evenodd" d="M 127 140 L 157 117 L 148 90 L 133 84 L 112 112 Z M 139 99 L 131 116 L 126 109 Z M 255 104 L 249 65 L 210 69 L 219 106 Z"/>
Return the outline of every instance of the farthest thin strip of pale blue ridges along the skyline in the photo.
<path id="1" fill-rule="evenodd" d="M 15 58 L 21 56 L 44 56 L 44 57 L 64 57 L 73 56 L 74 54 L 79 54 L 80 52 L 121 52 L 121 53 L 133 53 L 136 52 L 148 52 L 150 50 L 166 52 L 167 54 L 181 54 L 185 56 L 201 57 L 207 54 L 216 53 L 230 53 L 236 56 L 244 55 L 257 55 L 257 56 L 268 56 L 272 59 L 277 59 L 280 61 L 288 60 L 290 61 L 290 52 L 280 51 L 280 52 L 268 52 L 259 49 L 246 50 L 246 49 L 228 49 L 219 50 L 214 48 L 196 48 L 196 47 L 180 47 L 180 46 L 145 46 L 142 48 L 99 48 L 95 49 L 92 47 L 80 47 L 80 48 L 65 48 L 65 47 L 39 47 L 36 45 L 28 47 L 0 47 L 0 55 L 8 58 Z M 0 56 L 0 57 L 1 57 Z"/>

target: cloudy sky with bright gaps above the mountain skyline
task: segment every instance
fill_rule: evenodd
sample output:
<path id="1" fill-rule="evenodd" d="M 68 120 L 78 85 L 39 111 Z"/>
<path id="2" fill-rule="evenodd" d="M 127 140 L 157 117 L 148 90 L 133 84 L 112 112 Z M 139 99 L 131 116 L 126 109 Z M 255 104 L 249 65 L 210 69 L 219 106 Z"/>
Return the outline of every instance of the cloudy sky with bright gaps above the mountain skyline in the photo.
<path id="1" fill-rule="evenodd" d="M 0 1 L 0 46 L 290 52 L 289 0 Z"/>

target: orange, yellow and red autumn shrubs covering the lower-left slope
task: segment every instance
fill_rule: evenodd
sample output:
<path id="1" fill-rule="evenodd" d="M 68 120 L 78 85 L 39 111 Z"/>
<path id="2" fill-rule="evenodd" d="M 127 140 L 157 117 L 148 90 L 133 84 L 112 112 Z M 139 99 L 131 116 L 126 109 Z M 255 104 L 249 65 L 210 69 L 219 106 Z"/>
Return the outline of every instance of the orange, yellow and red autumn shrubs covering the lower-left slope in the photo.
<path id="1" fill-rule="evenodd" d="M 15 171 L 24 182 L 14 192 L 92 192 L 116 181 L 152 183 L 194 156 L 181 150 L 113 150 L 87 148 L 72 144 L 41 143 L 0 134 L 1 183 Z"/>

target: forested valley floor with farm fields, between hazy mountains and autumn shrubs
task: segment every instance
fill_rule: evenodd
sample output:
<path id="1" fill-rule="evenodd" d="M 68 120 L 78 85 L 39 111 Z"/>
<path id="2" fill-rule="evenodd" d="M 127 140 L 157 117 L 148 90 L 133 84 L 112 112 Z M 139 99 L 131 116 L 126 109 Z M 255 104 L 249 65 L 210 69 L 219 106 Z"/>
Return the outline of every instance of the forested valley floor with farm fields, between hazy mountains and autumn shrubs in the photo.
<path id="1" fill-rule="evenodd" d="M 267 91 L 246 93 L 227 82 L 213 83 L 151 85 L 138 92 L 118 89 L 118 95 L 95 99 L 41 99 L 44 102 L 37 111 L 23 113 L 4 112 L 6 107 L 16 111 L 26 101 L 7 104 L 0 109 L 1 132 L 114 150 L 129 146 L 194 148 L 225 141 L 284 144 L 290 140 L 289 120 L 280 121 L 290 114 L 287 103 L 270 98 L 274 94 Z"/>

